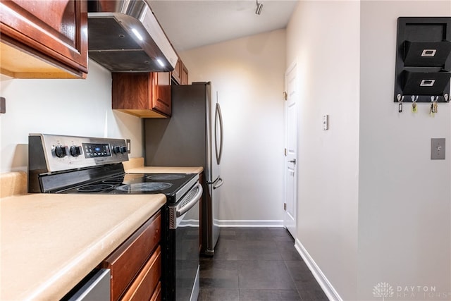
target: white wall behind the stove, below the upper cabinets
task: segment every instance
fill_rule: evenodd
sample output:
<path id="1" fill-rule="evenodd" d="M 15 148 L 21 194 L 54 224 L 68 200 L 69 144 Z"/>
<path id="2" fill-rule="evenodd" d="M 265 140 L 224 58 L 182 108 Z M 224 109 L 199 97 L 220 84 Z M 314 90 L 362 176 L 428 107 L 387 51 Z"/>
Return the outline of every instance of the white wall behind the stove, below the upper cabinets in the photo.
<path id="1" fill-rule="evenodd" d="M 130 157 L 143 156 L 140 118 L 113 112 L 111 73 L 94 61 L 86 80 L 2 77 L 0 85 L 0 172 L 27 170 L 29 133 L 130 139 Z"/>

